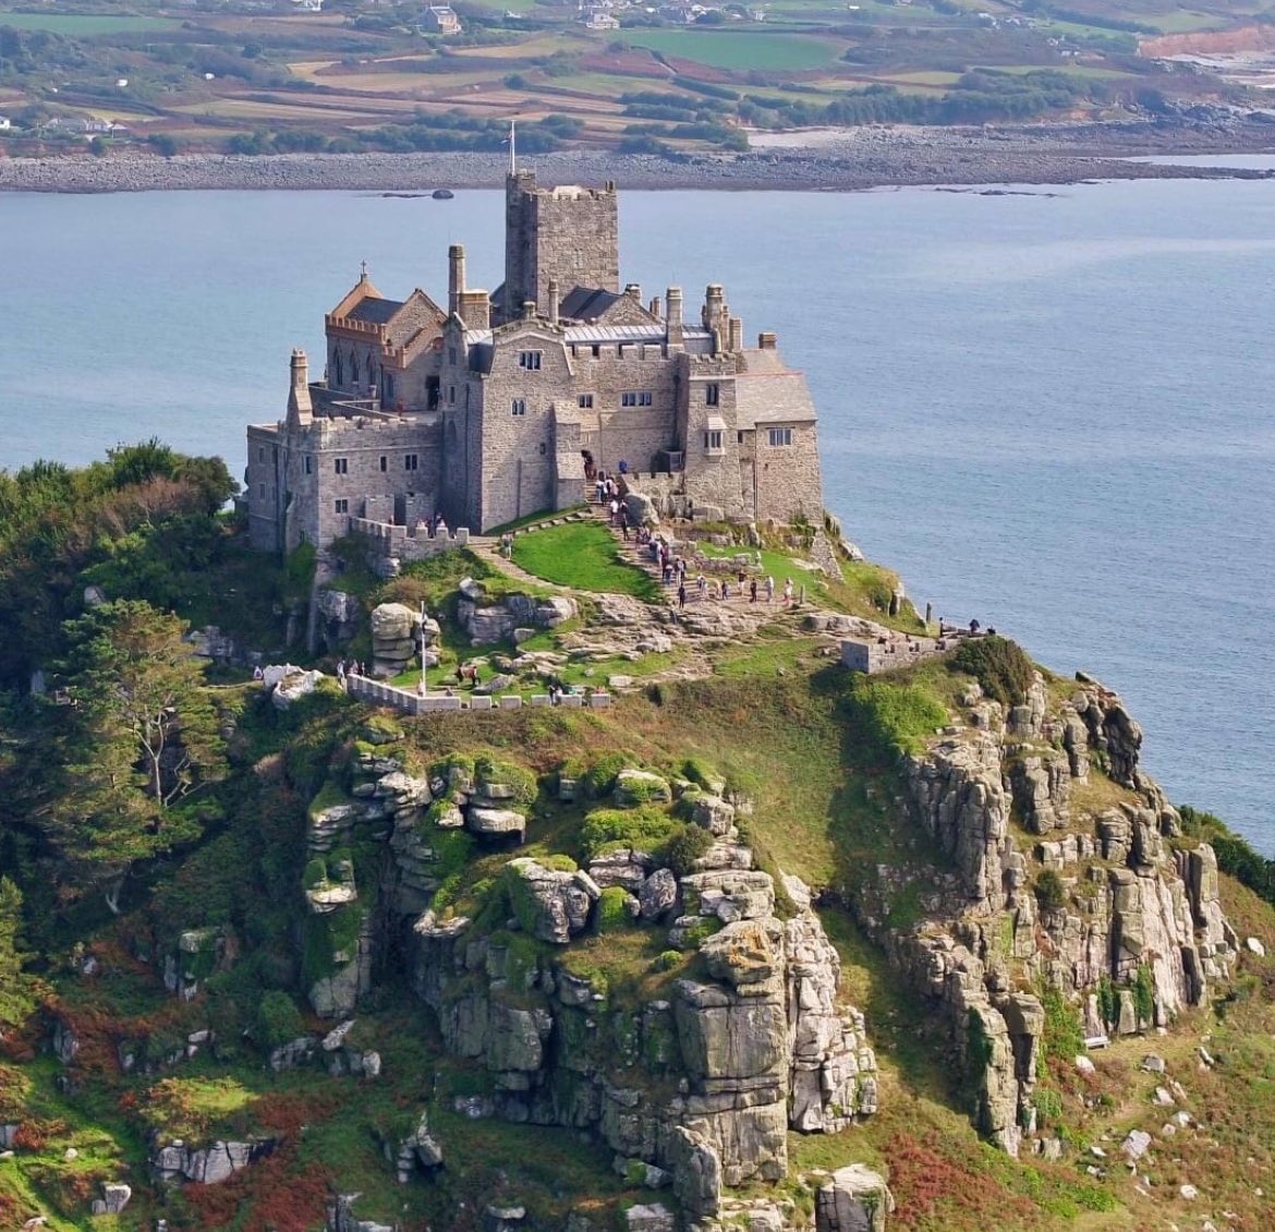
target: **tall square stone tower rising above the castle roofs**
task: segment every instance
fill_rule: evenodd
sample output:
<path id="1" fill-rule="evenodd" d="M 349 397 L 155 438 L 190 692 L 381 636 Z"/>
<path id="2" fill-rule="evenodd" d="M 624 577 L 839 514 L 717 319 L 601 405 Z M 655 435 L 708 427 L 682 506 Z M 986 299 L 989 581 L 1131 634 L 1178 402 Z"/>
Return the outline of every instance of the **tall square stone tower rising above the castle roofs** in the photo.
<path id="1" fill-rule="evenodd" d="M 534 301 L 548 315 L 550 279 L 561 293 L 575 287 L 620 291 L 620 210 L 615 184 L 601 189 L 536 186 L 534 171 L 505 177 L 504 320 L 518 320 Z"/>

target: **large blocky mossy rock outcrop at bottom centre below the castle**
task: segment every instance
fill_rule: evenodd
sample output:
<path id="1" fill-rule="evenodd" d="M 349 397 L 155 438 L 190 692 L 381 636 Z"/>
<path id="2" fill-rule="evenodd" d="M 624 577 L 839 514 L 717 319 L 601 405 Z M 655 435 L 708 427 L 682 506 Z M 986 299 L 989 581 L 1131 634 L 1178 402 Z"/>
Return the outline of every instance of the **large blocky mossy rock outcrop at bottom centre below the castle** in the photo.
<path id="1" fill-rule="evenodd" d="M 863 1016 L 838 1000 L 836 953 L 805 888 L 793 883 L 797 913 L 780 920 L 771 877 L 751 865 L 725 837 L 680 877 L 632 848 L 585 870 L 520 858 L 499 890 L 504 928 L 426 912 L 416 988 L 449 1052 L 492 1075 L 479 1113 L 586 1131 L 623 1175 L 672 1189 L 696 1228 L 741 1210 L 751 1226 L 794 1226 L 780 1205 L 740 1208 L 723 1190 L 782 1180 L 789 1129 L 835 1131 L 875 1111 L 876 1062 Z M 578 963 L 574 942 L 608 904 L 696 954 L 687 973 L 630 1000 L 618 972 Z M 671 953 L 658 965 L 685 964 Z M 663 1203 L 639 1209 L 652 1227 L 683 1226 Z"/>

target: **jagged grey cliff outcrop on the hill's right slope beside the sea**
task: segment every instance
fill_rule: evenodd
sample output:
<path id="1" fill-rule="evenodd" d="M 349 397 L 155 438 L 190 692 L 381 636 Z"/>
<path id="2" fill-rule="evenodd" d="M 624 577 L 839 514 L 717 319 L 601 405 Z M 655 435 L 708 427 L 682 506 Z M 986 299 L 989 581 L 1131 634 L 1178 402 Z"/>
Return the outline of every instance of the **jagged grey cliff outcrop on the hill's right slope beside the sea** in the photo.
<path id="1" fill-rule="evenodd" d="M 863 911 L 946 1011 L 977 1120 L 1011 1153 L 1035 1124 L 1046 990 L 1090 1037 L 1170 1027 L 1237 950 L 1214 852 L 1176 842 L 1178 815 L 1139 768 L 1142 733 L 1119 696 L 1082 675 L 1060 694 L 1038 675 L 1006 709 L 969 687 L 963 722 L 903 765 L 912 821 L 946 862 L 914 870 L 924 918 L 885 925 L 909 877 L 896 870 L 881 870 Z"/>

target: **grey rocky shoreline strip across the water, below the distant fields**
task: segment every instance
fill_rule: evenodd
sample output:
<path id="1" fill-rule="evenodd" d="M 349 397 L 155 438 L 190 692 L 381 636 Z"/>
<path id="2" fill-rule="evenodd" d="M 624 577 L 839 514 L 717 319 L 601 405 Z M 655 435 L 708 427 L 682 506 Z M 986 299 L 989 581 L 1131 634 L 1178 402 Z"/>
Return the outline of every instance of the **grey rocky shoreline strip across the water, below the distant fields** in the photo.
<path id="1" fill-rule="evenodd" d="M 769 135 L 769 134 L 766 134 Z M 765 136 L 765 135 L 764 135 Z M 802 144 L 808 139 L 810 144 Z M 1275 125 L 1127 122 L 1019 128 L 863 128 L 790 133 L 742 154 L 666 158 L 570 150 L 527 158 L 544 182 L 615 180 L 634 190 L 862 191 L 876 187 L 1067 185 L 1088 180 L 1275 179 L 1242 167 L 1128 162 L 1137 157 L 1275 153 Z M 499 153 L 75 154 L 0 158 L 0 191 L 344 190 L 430 193 L 495 189 Z"/>

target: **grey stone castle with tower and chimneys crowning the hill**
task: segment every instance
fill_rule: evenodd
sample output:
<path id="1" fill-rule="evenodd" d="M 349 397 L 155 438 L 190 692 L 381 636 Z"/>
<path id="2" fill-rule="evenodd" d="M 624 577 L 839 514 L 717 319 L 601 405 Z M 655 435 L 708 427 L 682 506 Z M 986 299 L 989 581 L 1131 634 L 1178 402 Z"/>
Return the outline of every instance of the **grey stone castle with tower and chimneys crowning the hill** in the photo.
<path id="1" fill-rule="evenodd" d="M 819 522 L 815 408 L 775 335 L 743 343 L 719 284 L 699 320 L 682 291 L 620 283 L 616 189 L 505 187 L 505 282 L 444 309 L 386 298 L 366 267 L 326 315 L 326 371 L 292 353 L 287 416 L 247 430 L 251 541 L 325 548 L 442 517 L 484 533 L 585 499 L 595 471 L 711 520 Z M 399 532 L 403 533 L 403 532 Z"/>

